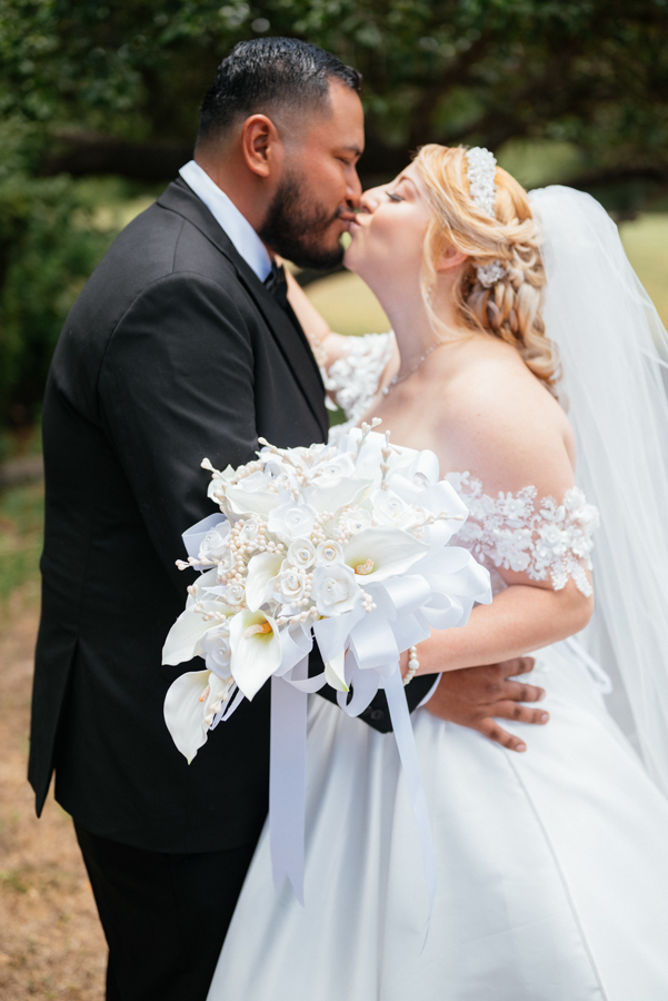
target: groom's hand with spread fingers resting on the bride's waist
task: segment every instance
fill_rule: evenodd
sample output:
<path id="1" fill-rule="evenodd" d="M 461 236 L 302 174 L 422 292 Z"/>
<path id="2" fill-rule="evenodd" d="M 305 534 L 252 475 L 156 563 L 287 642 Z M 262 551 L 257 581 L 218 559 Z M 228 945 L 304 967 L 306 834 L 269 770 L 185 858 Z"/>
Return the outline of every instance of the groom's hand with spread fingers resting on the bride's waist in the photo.
<path id="1" fill-rule="evenodd" d="M 495 717 L 538 725 L 548 722 L 549 713 L 545 710 L 521 705 L 540 702 L 545 691 L 511 681 L 531 671 L 535 663 L 534 657 L 516 657 L 501 664 L 446 671 L 426 708 L 441 720 L 477 730 L 509 751 L 526 751 L 524 741 L 499 726 Z"/>

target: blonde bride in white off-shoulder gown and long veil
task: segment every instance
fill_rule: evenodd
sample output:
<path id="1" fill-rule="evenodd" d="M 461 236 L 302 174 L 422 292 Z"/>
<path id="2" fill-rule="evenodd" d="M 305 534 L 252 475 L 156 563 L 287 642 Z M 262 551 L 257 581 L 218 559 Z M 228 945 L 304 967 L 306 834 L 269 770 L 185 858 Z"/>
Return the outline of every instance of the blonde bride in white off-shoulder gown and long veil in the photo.
<path id="1" fill-rule="evenodd" d="M 418 673 L 534 651 L 550 722 L 518 755 L 413 714 L 438 870 L 422 949 L 395 741 L 313 698 L 306 908 L 275 891 L 265 831 L 209 1001 L 665 1001 L 665 331 L 604 210 L 566 188 L 529 199 L 486 150 L 425 147 L 367 192 L 346 265 L 396 343 L 351 347 L 292 284 L 329 388 L 352 422 L 436 453 L 470 511 L 455 542 L 492 571 L 492 604 L 419 644 Z M 648 771 L 568 638 L 586 626 L 624 677 Z"/>

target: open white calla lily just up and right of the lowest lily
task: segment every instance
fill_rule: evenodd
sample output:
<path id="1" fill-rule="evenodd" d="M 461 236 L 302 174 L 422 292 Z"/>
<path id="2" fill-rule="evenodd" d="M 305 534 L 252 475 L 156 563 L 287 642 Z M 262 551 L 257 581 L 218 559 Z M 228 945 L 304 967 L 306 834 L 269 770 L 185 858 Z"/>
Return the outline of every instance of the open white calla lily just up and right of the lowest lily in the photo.
<path id="1" fill-rule="evenodd" d="M 251 701 L 280 667 L 282 648 L 275 620 L 263 612 L 239 612 L 230 622 L 230 646 L 235 681 Z"/>

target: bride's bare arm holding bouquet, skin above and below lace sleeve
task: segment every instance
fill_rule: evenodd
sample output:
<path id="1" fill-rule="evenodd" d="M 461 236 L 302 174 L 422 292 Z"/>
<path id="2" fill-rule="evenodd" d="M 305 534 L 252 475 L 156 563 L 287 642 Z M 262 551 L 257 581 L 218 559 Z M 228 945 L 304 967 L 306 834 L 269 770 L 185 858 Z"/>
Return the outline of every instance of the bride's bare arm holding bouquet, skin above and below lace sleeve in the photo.
<path id="1" fill-rule="evenodd" d="M 471 469 L 490 497 L 531 485 L 538 502 L 554 497 L 561 504 L 575 486 L 575 445 L 562 412 L 532 377 L 527 385 L 525 371 L 517 380 L 512 368 L 500 376 L 493 367 L 491 371 L 492 378 L 486 371 L 477 374 L 476 380 L 469 376 L 461 393 L 448 400 L 443 432 L 447 427 L 453 467 Z M 549 524 L 549 513 L 541 515 L 539 503 L 536 514 L 535 539 L 537 529 Z M 420 643 L 420 674 L 522 656 L 579 632 L 589 622 L 594 596 L 588 572 L 577 574 L 577 583 L 569 576 L 565 586 L 556 589 L 549 566 L 545 579 L 532 579 L 502 565 L 497 569 L 507 589 L 491 605 L 473 608 L 465 627 L 433 631 Z"/>

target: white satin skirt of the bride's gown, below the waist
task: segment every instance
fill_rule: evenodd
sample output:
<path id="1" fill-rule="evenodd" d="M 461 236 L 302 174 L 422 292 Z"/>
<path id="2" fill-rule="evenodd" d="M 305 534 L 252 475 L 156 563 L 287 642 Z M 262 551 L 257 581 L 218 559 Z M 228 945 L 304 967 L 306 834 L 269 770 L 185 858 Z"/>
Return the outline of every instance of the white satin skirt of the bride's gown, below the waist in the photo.
<path id="1" fill-rule="evenodd" d="M 393 736 L 310 696 L 306 908 L 268 830 L 208 1001 L 667 1001 L 668 800 L 558 644 L 525 754 L 427 710 L 413 730 L 437 854 L 427 892 Z"/>

